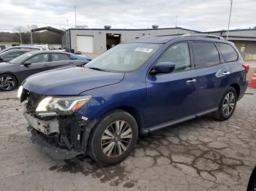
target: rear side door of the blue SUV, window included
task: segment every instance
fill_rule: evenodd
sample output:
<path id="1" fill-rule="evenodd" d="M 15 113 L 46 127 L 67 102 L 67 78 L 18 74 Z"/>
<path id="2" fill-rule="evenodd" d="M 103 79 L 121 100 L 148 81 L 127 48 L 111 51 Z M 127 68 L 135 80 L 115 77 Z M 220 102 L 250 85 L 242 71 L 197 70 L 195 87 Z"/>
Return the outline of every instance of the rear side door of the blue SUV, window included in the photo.
<path id="1" fill-rule="evenodd" d="M 217 109 L 229 84 L 230 69 L 214 42 L 192 42 L 197 73 L 197 113 Z"/>

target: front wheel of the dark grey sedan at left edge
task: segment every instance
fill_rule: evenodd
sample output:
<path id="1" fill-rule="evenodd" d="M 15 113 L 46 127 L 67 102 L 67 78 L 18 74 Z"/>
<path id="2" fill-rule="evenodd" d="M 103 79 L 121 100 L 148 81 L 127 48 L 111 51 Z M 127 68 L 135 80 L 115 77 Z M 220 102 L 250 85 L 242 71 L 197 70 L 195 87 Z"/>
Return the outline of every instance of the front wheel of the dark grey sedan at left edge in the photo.
<path id="1" fill-rule="evenodd" d="M 17 79 L 12 74 L 0 74 L 0 90 L 11 91 L 18 85 Z"/>

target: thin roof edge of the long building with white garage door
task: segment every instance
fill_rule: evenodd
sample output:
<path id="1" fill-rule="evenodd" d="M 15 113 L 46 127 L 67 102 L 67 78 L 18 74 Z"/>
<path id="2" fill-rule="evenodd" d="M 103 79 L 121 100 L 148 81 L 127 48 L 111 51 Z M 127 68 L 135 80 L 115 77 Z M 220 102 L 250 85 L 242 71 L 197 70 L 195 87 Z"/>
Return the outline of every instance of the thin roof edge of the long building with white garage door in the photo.
<path id="1" fill-rule="evenodd" d="M 181 27 L 172 27 L 172 28 L 69 28 L 67 31 L 74 31 L 74 30 L 84 30 L 84 31 L 157 31 L 157 30 L 170 30 L 170 29 L 181 29 L 186 31 L 192 31 L 200 33 L 200 31 L 195 31 L 187 28 L 181 28 Z"/>

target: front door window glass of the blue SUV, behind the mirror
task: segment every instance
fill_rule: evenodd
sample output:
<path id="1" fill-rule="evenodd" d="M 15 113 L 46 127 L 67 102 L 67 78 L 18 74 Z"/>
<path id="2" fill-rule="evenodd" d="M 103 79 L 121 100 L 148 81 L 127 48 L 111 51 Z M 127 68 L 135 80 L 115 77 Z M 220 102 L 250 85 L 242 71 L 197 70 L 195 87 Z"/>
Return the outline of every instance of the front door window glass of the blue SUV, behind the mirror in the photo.
<path id="1" fill-rule="evenodd" d="M 160 56 L 157 62 L 175 63 L 175 71 L 190 69 L 189 44 L 182 42 L 171 46 Z"/>

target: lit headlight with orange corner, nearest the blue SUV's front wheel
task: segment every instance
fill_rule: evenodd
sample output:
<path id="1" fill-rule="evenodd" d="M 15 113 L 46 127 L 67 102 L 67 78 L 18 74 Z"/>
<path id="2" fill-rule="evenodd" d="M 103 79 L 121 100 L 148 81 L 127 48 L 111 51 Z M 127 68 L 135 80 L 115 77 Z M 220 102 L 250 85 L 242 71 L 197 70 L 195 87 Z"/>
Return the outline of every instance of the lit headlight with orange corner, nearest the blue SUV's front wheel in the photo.
<path id="1" fill-rule="evenodd" d="M 37 106 L 36 112 L 72 114 L 91 99 L 91 95 L 76 97 L 46 97 Z"/>

